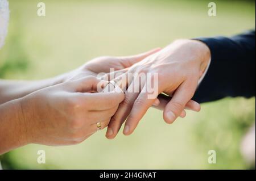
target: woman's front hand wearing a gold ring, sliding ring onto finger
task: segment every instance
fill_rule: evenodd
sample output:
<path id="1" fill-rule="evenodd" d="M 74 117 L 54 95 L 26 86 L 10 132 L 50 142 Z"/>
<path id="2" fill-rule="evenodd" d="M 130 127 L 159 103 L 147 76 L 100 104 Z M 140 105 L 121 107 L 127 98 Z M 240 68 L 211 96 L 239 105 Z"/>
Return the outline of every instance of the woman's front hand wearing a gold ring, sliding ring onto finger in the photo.
<path id="1" fill-rule="evenodd" d="M 20 112 L 15 116 L 18 119 L 15 124 L 12 120 L 7 121 L 8 115 L 3 117 L 5 120 L 0 119 L 0 153 L 17 147 L 11 140 L 19 141 L 19 146 L 30 143 L 72 145 L 95 133 L 97 123 L 100 122 L 104 129 L 124 94 L 120 91 L 97 92 L 101 83 L 104 82 L 91 76 L 35 91 L 18 102 L 15 100 L 20 105 L 19 111 L 14 110 Z M 5 108 L 5 104 L 0 108 Z M 18 129 L 19 137 L 12 139 Z M 23 140 L 19 139 L 21 137 Z M 13 145 L 8 145 L 10 143 Z"/>

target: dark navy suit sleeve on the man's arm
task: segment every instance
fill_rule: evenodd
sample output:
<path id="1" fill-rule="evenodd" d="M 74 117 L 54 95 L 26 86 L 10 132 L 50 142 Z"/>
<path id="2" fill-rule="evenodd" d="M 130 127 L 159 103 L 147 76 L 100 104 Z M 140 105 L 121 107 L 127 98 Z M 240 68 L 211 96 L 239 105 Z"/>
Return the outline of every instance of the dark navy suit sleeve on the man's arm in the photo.
<path id="1" fill-rule="evenodd" d="M 211 62 L 193 100 L 255 96 L 255 30 L 233 37 L 198 38 L 207 44 Z"/>

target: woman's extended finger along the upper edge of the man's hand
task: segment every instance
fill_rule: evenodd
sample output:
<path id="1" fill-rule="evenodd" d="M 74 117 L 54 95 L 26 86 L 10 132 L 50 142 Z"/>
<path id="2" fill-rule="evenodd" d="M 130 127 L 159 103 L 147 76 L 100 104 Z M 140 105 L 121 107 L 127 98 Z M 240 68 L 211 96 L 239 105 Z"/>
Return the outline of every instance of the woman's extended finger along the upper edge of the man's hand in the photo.
<path id="1" fill-rule="evenodd" d="M 133 56 L 119 57 L 119 60 L 122 61 L 125 68 L 129 68 L 133 64 L 136 64 L 137 62 L 142 61 L 144 58 L 150 56 L 151 54 L 159 52 L 159 50 L 161 50 L 161 48 L 155 48 L 155 49 L 151 49 L 147 52 L 136 54 Z"/>

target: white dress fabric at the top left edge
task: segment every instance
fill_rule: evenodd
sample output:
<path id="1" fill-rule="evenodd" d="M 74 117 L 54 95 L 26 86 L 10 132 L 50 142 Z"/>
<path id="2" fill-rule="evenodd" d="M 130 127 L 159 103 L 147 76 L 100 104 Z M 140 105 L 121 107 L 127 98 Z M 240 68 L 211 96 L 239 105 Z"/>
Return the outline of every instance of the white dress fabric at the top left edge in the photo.
<path id="1" fill-rule="evenodd" d="M 0 49 L 5 43 L 7 27 L 9 22 L 9 3 L 7 0 L 0 0 Z M 0 170 L 2 170 L 0 162 Z"/>

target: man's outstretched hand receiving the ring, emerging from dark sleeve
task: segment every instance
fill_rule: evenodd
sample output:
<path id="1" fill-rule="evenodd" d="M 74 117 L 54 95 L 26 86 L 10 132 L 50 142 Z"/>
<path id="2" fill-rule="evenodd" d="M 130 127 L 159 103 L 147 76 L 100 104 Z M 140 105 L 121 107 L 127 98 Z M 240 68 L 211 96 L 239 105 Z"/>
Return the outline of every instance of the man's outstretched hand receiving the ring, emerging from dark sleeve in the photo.
<path id="1" fill-rule="evenodd" d="M 186 104 L 195 93 L 199 78 L 207 68 L 210 50 L 207 45 L 196 40 L 177 40 L 168 47 L 152 54 L 128 69 L 128 73 L 158 73 L 158 94 L 164 92 L 172 99 L 166 104 L 163 118 L 166 123 L 173 123 L 181 115 Z M 118 78 L 117 78 L 118 80 Z M 128 81 L 128 85 L 134 85 Z M 141 92 L 125 92 L 125 100 L 119 105 L 108 126 L 106 137 L 114 138 L 122 123 L 125 123 L 123 133 L 129 135 L 137 127 L 144 113 L 157 100 L 148 99 L 150 92 L 146 89 L 147 82 L 141 83 Z M 129 90 L 129 87 L 128 87 Z M 160 99 L 161 103 L 162 99 Z"/>

